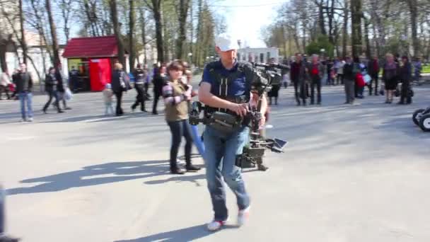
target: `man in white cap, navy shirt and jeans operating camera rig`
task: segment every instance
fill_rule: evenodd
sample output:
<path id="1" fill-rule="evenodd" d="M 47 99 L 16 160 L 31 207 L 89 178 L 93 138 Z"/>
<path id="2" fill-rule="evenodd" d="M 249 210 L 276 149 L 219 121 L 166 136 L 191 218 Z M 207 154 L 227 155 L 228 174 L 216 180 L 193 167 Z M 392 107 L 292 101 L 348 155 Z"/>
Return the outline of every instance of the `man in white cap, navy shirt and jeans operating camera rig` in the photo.
<path id="1" fill-rule="evenodd" d="M 207 125 L 203 133 L 203 158 L 214 209 L 214 219 L 208 224 L 211 231 L 220 229 L 228 219 L 222 180 L 236 195 L 239 226 L 245 223 L 250 212 L 250 197 L 236 160 L 248 143 L 250 128 L 245 117 L 250 111 L 251 96 L 256 95 L 251 93 L 252 85 L 258 83 L 256 79 L 261 79 L 261 76 L 254 71 L 252 64 L 236 59 L 237 49 L 237 40 L 230 35 L 222 33 L 217 36 L 216 52 L 220 59 L 207 64 L 199 87 L 199 101 L 204 103 L 205 108 L 214 111 L 212 119 L 215 120 Z M 260 125 L 264 125 L 267 109 L 265 96 L 259 103 L 262 113 Z"/>

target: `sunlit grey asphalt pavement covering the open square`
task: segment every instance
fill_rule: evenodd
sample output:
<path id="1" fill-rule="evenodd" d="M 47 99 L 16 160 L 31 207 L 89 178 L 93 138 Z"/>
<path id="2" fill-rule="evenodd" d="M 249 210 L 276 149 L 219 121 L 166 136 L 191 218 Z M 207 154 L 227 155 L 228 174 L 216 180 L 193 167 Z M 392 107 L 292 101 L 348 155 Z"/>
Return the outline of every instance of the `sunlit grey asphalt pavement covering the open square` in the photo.
<path id="1" fill-rule="evenodd" d="M 168 173 L 163 103 L 160 115 L 130 113 L 132 90 L 126 115 L 106 117 L 101 93 L 78 93 L 72 110 L 44 115 L 47 97 L 35 96 L 35 121 L 21 123 L 18 101 L 1 100 L 8 232 L 30 242 L 428 242 L 430 133 L 411 115 L 430 105 L 430 86 L 414 91 L 412 105 L 367 93 L 343 105 L 341 86 L 322 86 L 321 106 L 297 107 L 282 88 L 267 134 L 289 141 L 285 153 L 267 153 L 268 171 L 245 171 L 252 209 L 240 229 L 227 189 L 229 226 L 216 233 L 204 226 L 212 218 L 204 169 Z"/>

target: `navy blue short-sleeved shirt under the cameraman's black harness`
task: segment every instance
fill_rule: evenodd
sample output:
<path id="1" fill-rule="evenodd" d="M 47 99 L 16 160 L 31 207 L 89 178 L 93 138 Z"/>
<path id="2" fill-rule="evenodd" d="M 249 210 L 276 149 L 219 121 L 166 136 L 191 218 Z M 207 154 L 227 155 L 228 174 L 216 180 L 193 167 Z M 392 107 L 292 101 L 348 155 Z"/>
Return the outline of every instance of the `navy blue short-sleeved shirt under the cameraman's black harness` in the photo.
<path id="1" fill-rule="evenodd" d="M 236 72 L 238 69 L 238 62 L 236 62 L 232 69 L 226 69 L 226 67 L 221 64 L 221 60 L 213 62 L 210 64 L 211 67 L 204 67 L 202 82 L 207 82 L 211 84 L 211 93 L 214 95 L 219 95 L 219 83 L 214 79 L 209 73 L 210 68 L 214 68 L 215 71 L 223 77 L 227 77 L 229 74 Z M 245 92 L 249 91 L 249 87 L 246 86 L 245 73 L 242 72 L 232 83 L 228 86 L 227 96 L 243 96 Z"/>

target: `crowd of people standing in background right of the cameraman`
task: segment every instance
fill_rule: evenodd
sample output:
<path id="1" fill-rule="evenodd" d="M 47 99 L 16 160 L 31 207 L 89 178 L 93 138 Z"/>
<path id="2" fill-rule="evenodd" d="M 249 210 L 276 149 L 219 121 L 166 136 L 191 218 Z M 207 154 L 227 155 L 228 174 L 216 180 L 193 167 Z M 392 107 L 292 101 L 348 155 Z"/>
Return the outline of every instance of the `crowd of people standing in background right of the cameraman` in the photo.
<path id="1" fill-rule="evenodd" d="M 321 104 L 321 85 L 344 85 L 345 104 L 354 104 L 356 98 L 364 98 L 364 89 L 368 95 L 385 95 L 385 103 L 393 103 L 394 96 L 400 96 L 398 104 L 412 103 L 412 81 L 419 81 L 422 64 L 419 59 L 410 62 L 407 56 L 399 57 L 386 54 L 384 60 L 373 57 L 366 60 L 359 57 L 322 59 L 313 54 L 310 60 L 306 55 L 297 53 L 291 59 L 290 73 L 284 79 L 290 79 L 294 85 L 297 105 Z M 382 73 L 381 73 L 382 72 Z M 379 83 L 379 76 L 382 81 Z M 316 98 L 315 98 L 316 88 Z M 378 89 L 380 91 L 378 91 Z"/>

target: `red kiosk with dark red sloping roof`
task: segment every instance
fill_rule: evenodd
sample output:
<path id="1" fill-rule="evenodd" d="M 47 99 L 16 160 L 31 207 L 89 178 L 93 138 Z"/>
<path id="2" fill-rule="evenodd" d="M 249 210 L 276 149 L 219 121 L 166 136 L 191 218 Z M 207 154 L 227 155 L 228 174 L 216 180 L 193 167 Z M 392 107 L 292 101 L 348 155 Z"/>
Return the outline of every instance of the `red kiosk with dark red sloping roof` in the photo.
<path id="1" fill-rule="evenodd" d="M 79 70 L 86 91 L 103 91 L 110 83 L 118 47 L 115 36 L 72 38 L 66 45 L 63 57 L 71 67 Z"/>

